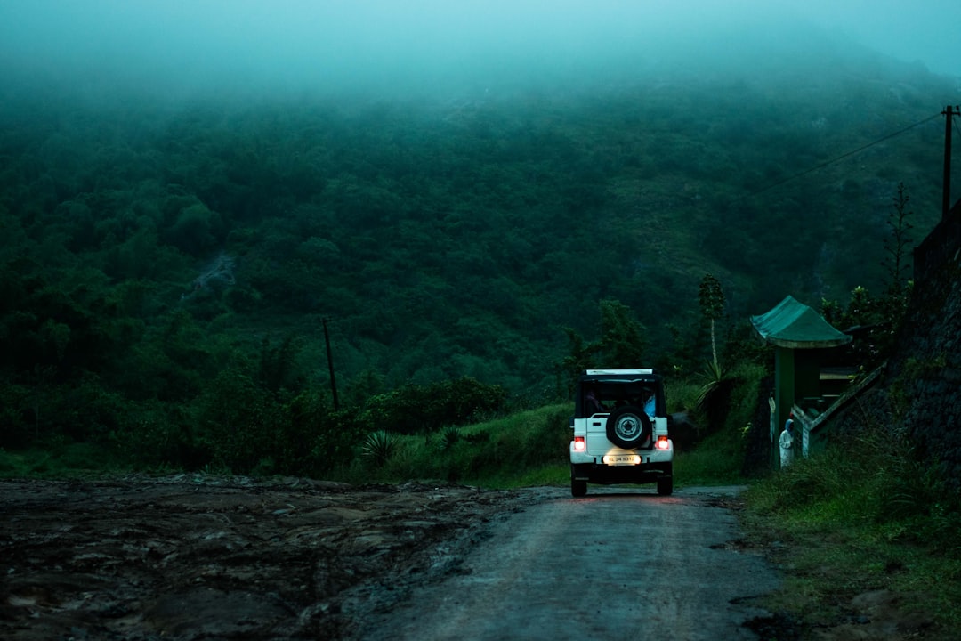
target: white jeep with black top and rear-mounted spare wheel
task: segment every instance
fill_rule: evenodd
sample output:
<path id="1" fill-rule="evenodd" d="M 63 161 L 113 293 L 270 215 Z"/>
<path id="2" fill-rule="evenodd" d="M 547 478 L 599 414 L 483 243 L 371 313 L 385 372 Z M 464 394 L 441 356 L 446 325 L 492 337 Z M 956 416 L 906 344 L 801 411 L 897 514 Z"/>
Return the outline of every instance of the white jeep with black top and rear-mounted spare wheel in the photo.
<path id="1" fill-rule="evenodd" d="M 664 381 L 653 369 L 589 369 L 578 380 L 571 429 L 571 494 L 587 483 L 657 483 L 674 491 L 674 443 Z"/>

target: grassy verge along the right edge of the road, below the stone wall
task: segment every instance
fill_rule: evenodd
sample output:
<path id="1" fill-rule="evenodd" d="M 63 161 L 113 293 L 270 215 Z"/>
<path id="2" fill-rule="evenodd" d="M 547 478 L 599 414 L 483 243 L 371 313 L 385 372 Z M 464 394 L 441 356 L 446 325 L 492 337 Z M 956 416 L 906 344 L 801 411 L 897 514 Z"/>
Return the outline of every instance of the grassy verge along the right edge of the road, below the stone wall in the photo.
<path id="1" fill-rule="evenodd" d="M 785 571 L 766 607 L 813 628 L 849 617 L 855 596 L 889 590 L 961 629 L 959 500 L 908 453 L 862 435 L 752 483 L 742 523 Z"/>

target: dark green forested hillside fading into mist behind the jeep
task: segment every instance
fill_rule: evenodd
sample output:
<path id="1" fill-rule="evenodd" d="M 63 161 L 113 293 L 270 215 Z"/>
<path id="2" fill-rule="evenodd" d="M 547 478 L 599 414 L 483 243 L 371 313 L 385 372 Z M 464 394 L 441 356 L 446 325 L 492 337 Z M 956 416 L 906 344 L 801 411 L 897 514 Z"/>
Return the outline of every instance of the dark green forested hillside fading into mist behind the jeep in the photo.
<path id="1" fill-rule="evenodd" d="M 462 376 L 540 398 L 602 301 L 644 326 L 645 360 L 686 365 L 672 341 L 697 342 L 705 273 L 733 319 L 882 287 L 897 185 L 916 241 L 940 216 L 956 81 L 865 52 L 752 60 L 177 103 L 11 69 L 5 429 L 36 428 L 58 389 L 116 407 L 188 407 L 224 371 L 324 389 L 322 318 L 352 398 Z M 56 420 L 94 420 L 72 411 Z"/>

